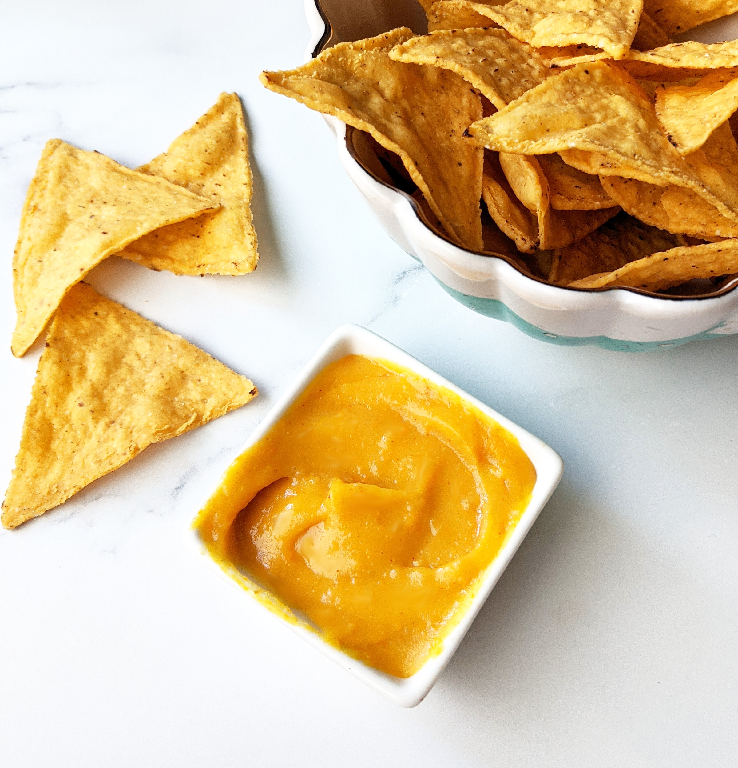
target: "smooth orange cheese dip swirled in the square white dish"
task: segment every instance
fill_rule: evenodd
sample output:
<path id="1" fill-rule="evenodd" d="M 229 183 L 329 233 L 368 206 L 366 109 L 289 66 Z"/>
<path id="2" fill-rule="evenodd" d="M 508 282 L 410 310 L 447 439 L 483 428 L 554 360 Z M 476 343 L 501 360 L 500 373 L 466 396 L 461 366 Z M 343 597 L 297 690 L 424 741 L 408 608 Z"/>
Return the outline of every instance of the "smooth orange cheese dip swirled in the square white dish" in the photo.
<path id="1" fill-rule="evenodd" d="M 226 571 L 352 657 L 410 677 L 440 650 L 533 485 L 515 437 L 479 409 L 348 356 L 236 459 L 195 525 Z"/>

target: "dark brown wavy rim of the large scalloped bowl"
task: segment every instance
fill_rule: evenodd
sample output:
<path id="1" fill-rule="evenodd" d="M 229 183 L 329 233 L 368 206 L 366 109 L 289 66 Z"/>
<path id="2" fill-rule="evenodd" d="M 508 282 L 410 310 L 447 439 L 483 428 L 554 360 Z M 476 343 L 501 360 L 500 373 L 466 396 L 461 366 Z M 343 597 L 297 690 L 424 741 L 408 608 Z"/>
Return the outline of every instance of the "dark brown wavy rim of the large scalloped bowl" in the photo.
<path id="1" fill-rule="evenodd" d="M 318 55 L 321 54 L 322 51 L 324 51 L 326 48 L 329 47 L 329 44 L 331 42 L 331 38 L 333 36 L 333 26 L 331 25 L 331 20 L 328 17 L 328 14 L 325 12 L 325 9 L 322 6 L 321 0 L 305 0 L 305 12 L 306 15 L 308 15 L 308 19 L 311 17 L 315 21 L 319 21 L 322 23 L 323 27 L 318 32 L 313 32 L 313 35 L 311 37 L 311 41 L 308 44 L 308 50 L 306 51 L 305 60 L 309 61 L 311 58 L 315 58 Z M 316 18 L 317 17 L 317 18 Z M 334 118 L 338 119 L 338 118 Z M 403 190 L 398 189 L 397 187 L 392 186 L 391 184 L 387 184 L 387 182 L 380 177 L 377 177 L 376 174 L 371 170 L 371 168 L 368 168 L 366 165 L 364 165 L 363 162 L 361 162 L 360 158 L 357 157 L 356 151 L 353 147 L 352 142 L 350 141 L 351 131 L 348 131 L 348 128 L 351 126 L 346 126 L 347 131 L 344 135 L 344 142 L 346 144 L 346 151 L 351 156 L 352 161 L 357 165 L 357 167 L 360 167 L 361 170 L 364 171 L 367 176 L 371 177 L 371 179 L 376 182 L 377 184 L 380 184 L 384 189 L 388 190 L 390 193 L 397 194 L 404 200 L 407 200 L 407 202 L 410 203 L 410 207 L 413 210 L 413 214 L 419 220 L 419 222 L 423 225 L 425 229 L 428 230 L 428 232 L 434 236 L 437 237 L 439 240 L 442 240 L 445 243 L 448 243 L 449 245 L 457 248 L 460 251 L 463 251 L 463 253 L 468 254 L 470 257 L 474 257 L 476 259 L 493 259 L 497 261 L 502 261 L 503 263 L 508 264 L 512 267 L 512 269 L 516 270 L 519 275 L 521 275 L 525 280 L 530 280 L 533 283 L 537 283 L 541 286 L 546 286 L 547 288 L 553 288 L 556 290 L 561 290 L 567 292 L 568 296 L 572 295 L 580 295 L 583 294 L 590 294 L 590 295 L 602 295 L 602 294 L 608 294 L 611 292 L 615 292 L 614 295 L 617 296 L 618 293 L 631 293 L 635 294 L 636 296 L 644 296 L 647 299 L 655 299 L 659 302 L 663 303 L 666 302 L 675 302 L 675 303 L 683 303 L 683 302 L 705 302 L 709 300 L 720 300 L 723 299 L 725 296 L 730 296 L 730 294 L 736 292 L 738 290 L 738 279 L 736 280 L 730 280 L 728 283 L 726 283 L 723 288 L 721 288 L 718 291 L 715 291 L 713 293 L 700 293 L 695 294 L 694 296 L 685 295 L 685 296 L 679 296 L 679 295 L 671 295 L 671 294 L 664 294 L 664 293 L 654 293 L 648 290 L 644 290 L 642 288 L 635 288 L 633 286 L 604 286 L 601 288 L 579 288 L 579 287 L 573 287 L 573 286 L 562 286 L 557 285 L 556 283 L 549 283 L 548 280 L 545 280 L 542 277 L 537 277 L 535 275 L 526 273 L 523 271 L 512 259 L 509 257 L 506 257 L 502 253 L 479 253 L 479 251 L 475 250 L 469 250 L 468 248 L 464 247 L 463 245 L 460 245 L 459 243 L 454 242 L 450 239 L 445 233 L 441 233 L 438 230 L 436 230 L 433 227 L 430 227 L 430 225 L 426 222 L 426 220 L 423 217 L 423 214 L 420 210 L 420 205 L 417 203 L 417 200 L 415 200 L 411 195 L 407 194 Z"/>

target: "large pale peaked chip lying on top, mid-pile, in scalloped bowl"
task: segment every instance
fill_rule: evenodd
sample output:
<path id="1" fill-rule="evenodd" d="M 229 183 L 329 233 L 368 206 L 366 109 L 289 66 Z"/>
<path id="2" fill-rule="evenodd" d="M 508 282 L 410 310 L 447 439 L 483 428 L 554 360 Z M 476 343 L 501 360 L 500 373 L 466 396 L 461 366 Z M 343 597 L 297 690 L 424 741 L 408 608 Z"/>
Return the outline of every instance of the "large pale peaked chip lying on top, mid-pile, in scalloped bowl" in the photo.
<path id="1" fill-rule="evenodd" d="M 651 100 L 614 62 L 578 65 L 549 78 L 468 132 L 488 149 L 560 152 L 588 174 L 686 187 L 738 222 L 738 180 L 701 151 L 681 157 Z"/>

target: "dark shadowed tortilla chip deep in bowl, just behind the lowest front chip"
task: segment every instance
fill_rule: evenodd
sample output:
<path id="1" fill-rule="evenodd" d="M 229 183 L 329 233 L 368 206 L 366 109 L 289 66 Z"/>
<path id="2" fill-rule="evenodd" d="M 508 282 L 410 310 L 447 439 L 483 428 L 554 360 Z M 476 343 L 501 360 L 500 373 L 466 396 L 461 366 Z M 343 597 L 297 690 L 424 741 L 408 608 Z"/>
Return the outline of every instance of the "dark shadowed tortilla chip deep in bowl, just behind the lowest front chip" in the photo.
<path id="1" fill-rule="evenodd" d="M 676 235 L 620 214 L 578 243 L 554 253 L 549 281 L 568 285 L 679 245 Z"/>

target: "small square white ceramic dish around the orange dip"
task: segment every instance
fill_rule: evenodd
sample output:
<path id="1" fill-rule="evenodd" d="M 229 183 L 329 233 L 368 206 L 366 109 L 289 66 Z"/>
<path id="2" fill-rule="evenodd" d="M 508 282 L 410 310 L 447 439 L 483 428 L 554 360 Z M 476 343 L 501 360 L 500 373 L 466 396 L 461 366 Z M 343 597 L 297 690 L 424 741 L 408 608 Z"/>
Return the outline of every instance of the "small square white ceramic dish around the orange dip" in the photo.
<path id="1" fill-rule="evenodd" d="M 476 588 L 476 594 L 473 599 L 466 604 L 466 607 L 462 607 L 460 611 L 463 613 L 455 617 L 456 624 L 453 629 L 446 635 L 443 640 L 440 650 L 431 654 L 427 659 L 423 667 L 420 667 L 415 674 L 411 677 L 400 678 L 393 675 L 377 670 L 374 667 L 370 667 L 364 664 L 362 661 L 354 659 L 347 653 L 344 653 L 340 648 L 334 647 L 328 644 L 318 630 L 313 628 L 308 621 L 305 621 L 295 613 L 297 621 L 288 621 L 287 618 L 279 615 L 282 612 L 290 614 L 291 611 L 274 611 L 270 610 L 265 605 L 264 598 L 259 598 L 258 594 L 269 593 L 268 590 L 264 590 L 259 587 L 259 584 L 252 582 L 249 578 L 249 574 L 242 574 L 242 578 L 237 578 L 236 574 L 229 574 L 224 571 L 220 565 L 213 559 L 205 543 L 199 535 L 199 531 L 191 524 L 184 533 L 184 541 L 186 547 L 193 551 L 209 568 L 211 571 L 215 571 L 230 584 L 236 586 L 239 591 L 248 596 L 250 599 L 255 600 L 265 607 L 278 621 L 289 627 L 292 631 L 297 633 L 309 644 L 316 647 L 321 653 L 325 654 L 332 660 L 339 664 L 344 670 L 350 672 L 354 677 L 362 680 L 374 690 L 384 694 L 387 698 L 399 704 L 401 707 L 415 707 L 419 704 L 423 698 L 425 698 L 436 684 L 436 681 L 449 663 L 456 648 L 463 640 L 466 631 L 471 626 L 476 614 L 483 606 L 486 599 L 489 597 L 489 593 L 493 590 L 495 584 L 499 580 L 502 572 L 507 567 L 507 564 L 512 560 L 512 556 L 516 553 L 517 548 L 520 546 L 522 540 L 531 529 L 535 518 L 539 516 L 540 511 L 549 501 L 552 493 L 554 492 L 558 482 L 562 477 L 564 464 L 562 458 L 548 445 L 539 440 L 538 438 L 526 432 L 516 424 L 513 424 L 509 419 L 500 415 L 493 409 L 486 406 L 483 402 L 479 402 L 476 398 L 473 398 L 469 394 L 460 389 L 456 385 L 447 381 L 443 376 L 439 376 L 436 372 L 424 366 L 422 362 L 419 362 L 412 356 L 408 355 L 402 349 L 399 349 L 394 344 L 390 344 L 381 336 L 377 336 L 375 333 L 371 333 L 361 326 L 346 325 L 338 328 L 331 336 L 326 339 L 325 343 L 318 349 L 318 352 L 312 357 L 301 373 L 292 382 L 292 385 L 288 387 L 287 391 L 282 397 L 275 403 L 272 410 L 265 416 L 265 419 L 259 425 L 255 432 L 251 435 L 249 440 L 243 446 L 242 451 L 248 449 L 255 442 L 259 441 L 266 435 L 272 427 L 282 419 L 285 412 L 288 411 L 290 406 L 301 396 L 306 387 L 318 376 L 326 366 L 331 362 L 335 362 L 347 355 L 363 355 L 380 360 L 387 360 L 393 362 L 398 366 L 403 366 L 406 369 L 422 376 L 433 384 L 450 389 L 455 392 L 457 396 L 466 402 L 469 402 L 472 406 L 478 408 L 481 412 L 497 422 L 504 429 L 507 429 L 512 435 L 515 435 L 522 450 L 529 456 L 532 464 L 535 467 L 536 480 L 533 488 L 532 497 L 528 507 L 522 513 L 517 525 L 509 531 L 506 540 L 502 544 L 496 558 L 489 564 L 486 571 L 483 573 L 478 586 Z M 282 602 L 279 599 L 270 594 L 270 600 L 275 602 L 278 606 L 282 607 Z"/>

